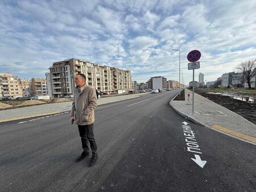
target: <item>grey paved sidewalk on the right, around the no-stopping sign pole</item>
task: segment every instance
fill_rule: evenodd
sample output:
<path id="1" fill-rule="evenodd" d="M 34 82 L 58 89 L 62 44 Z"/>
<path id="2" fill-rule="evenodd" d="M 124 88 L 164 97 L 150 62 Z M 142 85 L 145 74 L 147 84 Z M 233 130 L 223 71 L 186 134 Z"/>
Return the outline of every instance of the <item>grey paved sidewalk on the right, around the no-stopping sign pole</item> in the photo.
<path id="1" fill-rule="evenodd" d="M 188 102 L 188 93 L 191 99 Z M 195 93 L 192 114 L 192 91 L 185 89 L 185 101 L 170 101 L 170 106 L 192 122 L 256 145 L 256 125 L 247 119 Z"/>

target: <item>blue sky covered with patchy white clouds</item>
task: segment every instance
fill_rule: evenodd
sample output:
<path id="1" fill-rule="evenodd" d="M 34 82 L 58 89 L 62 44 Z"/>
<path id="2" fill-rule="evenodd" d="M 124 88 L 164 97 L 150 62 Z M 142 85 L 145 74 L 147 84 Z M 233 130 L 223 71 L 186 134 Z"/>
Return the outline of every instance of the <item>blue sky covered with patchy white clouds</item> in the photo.
<path id="1" fill-rule="evenodd" d="M 187 54 L 201 52 L 204 80 L 256 58 L 256 1 L 0 2 L 0 72 L 45 77 L 52 62 L 76 58 L 153 76 L 192 81 Z"/>

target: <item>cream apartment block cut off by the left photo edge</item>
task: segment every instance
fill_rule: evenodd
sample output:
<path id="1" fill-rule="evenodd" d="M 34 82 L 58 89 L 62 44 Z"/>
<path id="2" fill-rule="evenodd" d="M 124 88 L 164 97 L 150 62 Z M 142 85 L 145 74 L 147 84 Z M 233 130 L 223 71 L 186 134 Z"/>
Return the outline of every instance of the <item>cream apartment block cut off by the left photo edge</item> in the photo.
<path id="1" fill-rule="evenodd" d="M 0 73 L 0 97 L 23 97 L 18 77 L 11 73 Z"/>

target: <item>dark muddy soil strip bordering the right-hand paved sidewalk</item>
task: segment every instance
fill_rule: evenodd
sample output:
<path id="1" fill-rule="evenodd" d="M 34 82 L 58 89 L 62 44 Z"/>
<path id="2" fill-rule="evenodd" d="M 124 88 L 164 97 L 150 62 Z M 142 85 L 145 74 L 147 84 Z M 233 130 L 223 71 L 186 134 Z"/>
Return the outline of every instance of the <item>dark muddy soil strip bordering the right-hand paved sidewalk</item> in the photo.
<path id="1" fill-rule="evenodd" d="M 236 112 L 237 114 L 243 116 L 243 118 L 249 120 L 251 123 L 256 124 L 256 103 L 240 101 L 238 99 L 233 99 L 229 96 L 224 96 L 220 94 L 209 94 L 209 90 L 197 89 L 195 91 L 197 94 L 209 99 L 228 108 L 230 111 Z M 212 92 L 212 91 L 211 91 Z"/>

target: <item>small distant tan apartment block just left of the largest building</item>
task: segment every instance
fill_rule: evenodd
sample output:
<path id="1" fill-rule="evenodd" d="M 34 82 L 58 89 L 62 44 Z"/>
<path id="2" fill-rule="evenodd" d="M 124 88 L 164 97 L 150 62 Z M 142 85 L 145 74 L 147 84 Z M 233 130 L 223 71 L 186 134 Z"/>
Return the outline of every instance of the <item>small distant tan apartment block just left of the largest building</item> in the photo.
<path id="1" fill-rule="evenodd" d="M 45 78 L 31 79 L 31 95 L 47 95 L 47 85 Z"/>

